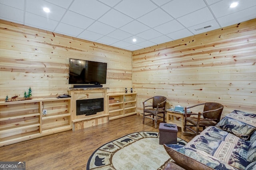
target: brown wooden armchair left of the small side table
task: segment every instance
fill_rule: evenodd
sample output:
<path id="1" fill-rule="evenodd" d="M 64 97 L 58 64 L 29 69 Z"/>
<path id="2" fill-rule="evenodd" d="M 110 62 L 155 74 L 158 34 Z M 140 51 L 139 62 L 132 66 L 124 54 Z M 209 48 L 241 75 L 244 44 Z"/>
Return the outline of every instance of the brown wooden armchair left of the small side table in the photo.
<path id="1" fill-rule="evenodd" d="M 153 99 L 152 105 L 145 106 L 145 102 L 148 100 Z M 143 102 L 143 124 L 145 122 L 145 118 L 152 119 L 155 121 L 155 128 L 157 124 L 157 120 L 163 118 L 165 122 L 165 104 L 167 98 L 164 96 L 154 96 L 149 98 Z M 163 115 L 159 115 L 163 114 Z M 152 117 L 151 117 L 152 115 Z"/>

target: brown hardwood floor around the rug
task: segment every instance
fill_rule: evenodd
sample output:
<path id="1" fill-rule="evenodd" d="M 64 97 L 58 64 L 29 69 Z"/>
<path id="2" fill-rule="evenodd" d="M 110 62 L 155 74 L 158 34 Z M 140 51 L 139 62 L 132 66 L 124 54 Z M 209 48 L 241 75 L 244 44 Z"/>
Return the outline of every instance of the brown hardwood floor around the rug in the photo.
<path id="1" fill-rule="evenodd" d="M 154 128 L 152 120 L 145 119 L 143 125 L 142 116 L 132 115 L 78 131 L 0 147 L 0 161 L 25 161 L 26 170 L 85 170 L 88 158 L 98 147 L 139 131 L 158 132 L 158 128 Z M 183 136 L 180 128 L 178 137 L 187 142 L 193 138 Z"/>

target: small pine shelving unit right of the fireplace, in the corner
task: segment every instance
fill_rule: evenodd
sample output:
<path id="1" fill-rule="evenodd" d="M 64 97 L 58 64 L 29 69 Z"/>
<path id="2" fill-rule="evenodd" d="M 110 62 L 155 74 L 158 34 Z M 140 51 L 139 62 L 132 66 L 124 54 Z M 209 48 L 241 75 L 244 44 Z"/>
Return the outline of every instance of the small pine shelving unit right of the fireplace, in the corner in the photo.
<path id="1" fill-rule="evenodd" d="M 137 113 L 137 93 L 108 94 L 109 120 Z"/>

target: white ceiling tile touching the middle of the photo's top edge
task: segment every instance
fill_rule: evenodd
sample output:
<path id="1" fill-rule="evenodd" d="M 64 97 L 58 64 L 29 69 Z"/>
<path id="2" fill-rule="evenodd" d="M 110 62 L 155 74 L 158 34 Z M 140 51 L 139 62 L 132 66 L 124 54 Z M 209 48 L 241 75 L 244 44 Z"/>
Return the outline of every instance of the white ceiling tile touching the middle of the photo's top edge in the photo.
<path id="1" fill-rule="evenodd" d="M 114 8 L 136 19 L 156 9 L 157 6 L 149 0 L 123 0 Z"/>

